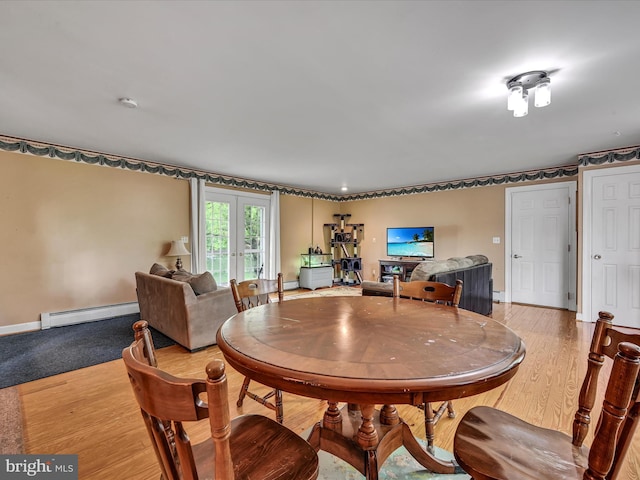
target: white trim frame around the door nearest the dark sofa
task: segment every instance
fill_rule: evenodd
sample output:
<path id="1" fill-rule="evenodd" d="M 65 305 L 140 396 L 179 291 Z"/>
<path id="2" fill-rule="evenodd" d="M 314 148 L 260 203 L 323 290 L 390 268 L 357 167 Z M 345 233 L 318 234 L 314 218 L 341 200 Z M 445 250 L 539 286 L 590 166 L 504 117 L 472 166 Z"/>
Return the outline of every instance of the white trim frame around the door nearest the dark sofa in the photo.
<path id="1" fill-rule="evenodd" d="M 572 255 L 569 255 L 569 285 L 567 286 L 569 298 L 565 305 L 568 310 L 576 311 L 577 309 L 576 278 L 578 253 L 576 234 L 576 190 L 578 188 L 578 183 L 576 181 L 541 183 L 523 187 L 509 187 L 505 189 L 504 301 L 506 303 L 511 303 L 511 201 L 513 194 L 532 190 L 552 190 L 562 187 L 567 187 L 569 193 L 569 232 L 573 232 L 573 234 L 569 235 L 569 248 Z"/>

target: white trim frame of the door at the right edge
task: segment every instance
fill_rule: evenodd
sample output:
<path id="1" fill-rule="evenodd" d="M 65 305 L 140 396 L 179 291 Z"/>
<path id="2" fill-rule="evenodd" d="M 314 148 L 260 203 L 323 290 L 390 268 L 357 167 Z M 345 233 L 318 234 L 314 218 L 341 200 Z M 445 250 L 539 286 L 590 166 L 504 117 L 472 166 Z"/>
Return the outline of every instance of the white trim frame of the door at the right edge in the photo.
<path id="1" fill-rule="evenodd" d="M 591 311 L 591 225 L 593 223 L 593 179 L 605 175 L 640 173 L 640 165 L 597 168 L 582 174 L 582 312 L 576 315 L 583 322 L 595 322 Z"/>

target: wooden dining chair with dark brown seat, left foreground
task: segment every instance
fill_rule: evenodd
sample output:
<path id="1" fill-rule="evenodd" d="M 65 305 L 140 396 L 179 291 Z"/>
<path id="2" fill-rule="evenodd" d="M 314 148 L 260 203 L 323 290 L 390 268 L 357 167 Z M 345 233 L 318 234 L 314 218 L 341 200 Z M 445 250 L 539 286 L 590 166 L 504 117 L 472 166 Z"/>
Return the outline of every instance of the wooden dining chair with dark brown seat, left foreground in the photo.
<path id="1" fill-rule="evenodd" d="M 164 480 L 312 480 L 315 450 L 291 430 L 262 415 L 230 420 L 224 362 L 206 366 L 206 380 L 178 378 L 157 368 L 146 321 L 122 352 Z M 211 438 L 192 444 L 184 422 L 208 418 Z"/>

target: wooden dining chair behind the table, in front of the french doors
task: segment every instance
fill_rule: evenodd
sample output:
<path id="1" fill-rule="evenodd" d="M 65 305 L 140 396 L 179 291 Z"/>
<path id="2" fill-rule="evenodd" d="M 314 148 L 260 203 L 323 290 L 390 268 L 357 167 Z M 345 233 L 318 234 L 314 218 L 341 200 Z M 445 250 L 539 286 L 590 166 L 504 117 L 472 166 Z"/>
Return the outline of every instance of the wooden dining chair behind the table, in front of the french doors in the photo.
<path id="1" fill-rule="evenodd" d="M 278 277 L 275 280 L 254 279 L 237 282 L 234 278 L 231 280 L 230 284 L 231 293 L 233 294 L 233 300 L 236 302 L 238 313 L 259 305 L 270 303 L 271 295 L 274 294 L 278 295 L 279 302 L 282 302 L 284 299 L 284 281 L 282 273 L 278 273 Z M 249 397 L 275 411 L 276 420 L 279 423 L 282 423 L 284 421 L 282 391 L 273 389 L 266 395 L 260 396 L 249 390 L 250 383 L 251 379 L 249 377 L 244 377 L 242 387 L 240 388 L 240 394 L 238 395 L 238 401 L 236 402 L 238 407 L 242 406 L 245 396 Z"/>

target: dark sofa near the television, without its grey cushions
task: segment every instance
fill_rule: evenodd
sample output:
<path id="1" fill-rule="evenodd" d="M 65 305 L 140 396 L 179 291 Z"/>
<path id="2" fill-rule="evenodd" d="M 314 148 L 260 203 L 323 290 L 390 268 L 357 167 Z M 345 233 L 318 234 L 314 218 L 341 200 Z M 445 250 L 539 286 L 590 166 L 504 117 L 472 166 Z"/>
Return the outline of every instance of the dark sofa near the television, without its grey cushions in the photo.
<path id="1" fill-rule="evenodd" d="M 462 280 L 462 296 L 459 307 L 481 315 L 491 315 L 493 312 L 491 263 L 434 273 L 427 280 L 448 285 L 455 285 L 456 280 Z M 365 281 L 362 283 L 362 295 L 390 297 L 393 295 L 393 285 L 385 282 Z"/>

